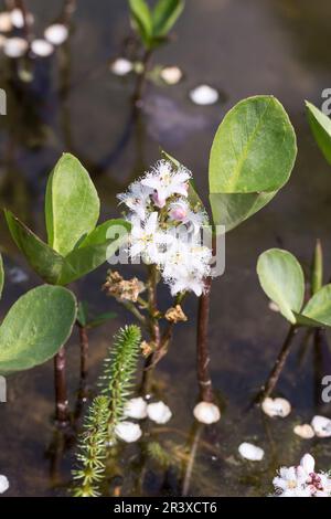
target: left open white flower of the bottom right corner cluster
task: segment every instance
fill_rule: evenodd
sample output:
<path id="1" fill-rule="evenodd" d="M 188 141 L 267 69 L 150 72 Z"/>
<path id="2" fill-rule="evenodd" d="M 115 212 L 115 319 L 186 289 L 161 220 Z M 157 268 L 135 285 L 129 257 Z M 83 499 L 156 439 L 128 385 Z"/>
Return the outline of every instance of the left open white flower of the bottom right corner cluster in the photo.
<path id="1" fill-rule="evenodd" d="M 311 497 L 302 467 L 281 467 L 273 484 L 280 497 Z"/>

